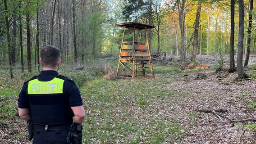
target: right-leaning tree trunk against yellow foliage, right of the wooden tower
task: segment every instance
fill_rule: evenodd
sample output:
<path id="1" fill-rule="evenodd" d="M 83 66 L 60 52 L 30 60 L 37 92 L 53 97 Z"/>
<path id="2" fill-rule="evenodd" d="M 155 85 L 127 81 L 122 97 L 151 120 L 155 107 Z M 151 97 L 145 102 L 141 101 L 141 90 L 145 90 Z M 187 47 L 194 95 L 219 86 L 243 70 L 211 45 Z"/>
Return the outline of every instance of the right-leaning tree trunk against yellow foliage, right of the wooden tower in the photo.
<path id="1" fill-rule="evenodd" d="M 198 29 L 199 29 L 200 13 L 201 13 L 201 2 L 198 2 L 197 16 L 196 16 L 195 30 L 194 30 L 193 50 L 192 50 L 192 58 L 191 58 L 192 62 L 196 61 L 196 58 L 197 58 Z"/>

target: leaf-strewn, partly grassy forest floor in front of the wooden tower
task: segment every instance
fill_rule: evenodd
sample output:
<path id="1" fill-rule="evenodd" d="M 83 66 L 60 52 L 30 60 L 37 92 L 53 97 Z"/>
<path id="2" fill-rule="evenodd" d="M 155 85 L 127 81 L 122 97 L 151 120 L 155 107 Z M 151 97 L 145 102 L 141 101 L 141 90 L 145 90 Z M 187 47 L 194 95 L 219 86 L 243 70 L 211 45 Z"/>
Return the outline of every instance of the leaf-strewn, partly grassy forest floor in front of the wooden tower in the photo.
<path id="1" fill-rule="evenodd" d="M 255 121 L 223 122 L 213 113 L 194 111 L 226 109 L 225 117 L 256 118 L 255 108 L 247 108 L 256 101 L 256 80 L 236 77 L 236 72 L 206 69 L 186 76 L 156 73 L 155 78 L 88 82 L 80 88 L 87 115 L 83 143 L 256 144 L 256 131 L 245 127 Z M 1 144 L 32 144 L 25 121 L 1 119 Z"/>

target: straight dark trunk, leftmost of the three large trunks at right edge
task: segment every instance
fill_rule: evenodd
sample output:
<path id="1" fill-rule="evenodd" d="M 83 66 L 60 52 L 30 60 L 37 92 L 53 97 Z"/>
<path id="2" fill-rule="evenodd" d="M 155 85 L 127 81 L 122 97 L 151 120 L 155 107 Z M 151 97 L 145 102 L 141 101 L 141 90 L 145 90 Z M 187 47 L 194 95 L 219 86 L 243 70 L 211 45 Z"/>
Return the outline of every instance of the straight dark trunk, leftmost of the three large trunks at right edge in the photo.
<path id="1" fill-rule="evenodd" d="M 230 45 L 229 45 L 229 72 L 234 72 L 235 58 L 234 58 L 234 38 L 235 38 L 235 0 L 231 0 L 231 14 L 230 14 Z"/>

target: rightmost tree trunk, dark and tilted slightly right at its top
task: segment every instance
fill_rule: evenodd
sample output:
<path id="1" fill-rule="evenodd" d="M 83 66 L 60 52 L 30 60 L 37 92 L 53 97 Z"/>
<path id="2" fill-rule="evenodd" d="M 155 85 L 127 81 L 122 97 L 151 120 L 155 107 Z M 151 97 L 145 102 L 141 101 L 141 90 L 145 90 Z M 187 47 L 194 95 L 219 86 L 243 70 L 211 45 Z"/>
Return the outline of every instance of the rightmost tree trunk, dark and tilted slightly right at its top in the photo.
<path id="1" fill-rule="evenodd" d="M 247 51 L 243 67 L 248 66 L 250 49 L 251 49 L 251 26 L 252 26 L 252 10 L 253 10 L 253 0 L 250 0 L 250 10 L 249 10 L 249 24 L 247 29 Z"/>

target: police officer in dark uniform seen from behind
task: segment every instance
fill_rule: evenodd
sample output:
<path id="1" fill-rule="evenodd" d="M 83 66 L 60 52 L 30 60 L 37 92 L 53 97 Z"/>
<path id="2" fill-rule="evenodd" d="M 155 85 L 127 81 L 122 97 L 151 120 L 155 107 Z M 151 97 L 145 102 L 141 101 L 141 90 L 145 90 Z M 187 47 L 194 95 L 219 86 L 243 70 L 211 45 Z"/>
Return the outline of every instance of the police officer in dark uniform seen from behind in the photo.
<path id="1" fill-rule="evenodd" d="M 45 45 L 40 63 L 43 71 L 26 81 L 19 94 L 18 114 L 32 122 L 33 144 L 66 144 L 69 126 L 85 120 L 82 97 L 73 80 L 58 74 L 57 47 Z"/>

